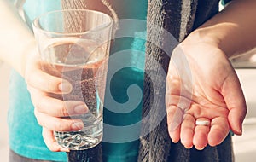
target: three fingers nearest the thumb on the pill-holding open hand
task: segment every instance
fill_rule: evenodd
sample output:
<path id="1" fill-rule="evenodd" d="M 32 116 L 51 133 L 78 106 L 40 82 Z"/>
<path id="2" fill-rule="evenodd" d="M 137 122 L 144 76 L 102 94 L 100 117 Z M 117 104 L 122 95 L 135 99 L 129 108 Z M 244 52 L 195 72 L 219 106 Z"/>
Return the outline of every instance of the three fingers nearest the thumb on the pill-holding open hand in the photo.
<path id="1" fill-rule="evenodd" d="M 209 124 L 196 124 L 197 121 L 208 122 Z M 211 124 L 210 124 L 211 123 Z M 196 119 L 186 114 L 181 126 L 181 142 L 185 148 L 202 150 L 209 144 L 214 147 L 224 141 L 229 134 L 230 127 L 226 118 L 219 117 L 210 121 L 206 118 Z"/>

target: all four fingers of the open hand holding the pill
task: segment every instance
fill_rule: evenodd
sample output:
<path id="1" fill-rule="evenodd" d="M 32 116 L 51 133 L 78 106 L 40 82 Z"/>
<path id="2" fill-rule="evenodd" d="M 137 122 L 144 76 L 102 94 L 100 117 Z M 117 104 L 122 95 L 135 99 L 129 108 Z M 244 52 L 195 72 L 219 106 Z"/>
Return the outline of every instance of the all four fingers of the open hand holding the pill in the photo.
<path id="1" fill-rule="evenodd" d="M 197 121 L 206 124 L 196 124 Z M 183 111 L 175 106 L 167 108 L 167 124 L 172 142 L 180 140 L 185 148 L 195 146 L 198 150 L 205 148 L 207 144 L 212 147 L 220 144 L 230 132 L 225 116 L 215 117 L 212 121 L 201 117 L 196 119 L 195 114 L 183 114 Z"/>

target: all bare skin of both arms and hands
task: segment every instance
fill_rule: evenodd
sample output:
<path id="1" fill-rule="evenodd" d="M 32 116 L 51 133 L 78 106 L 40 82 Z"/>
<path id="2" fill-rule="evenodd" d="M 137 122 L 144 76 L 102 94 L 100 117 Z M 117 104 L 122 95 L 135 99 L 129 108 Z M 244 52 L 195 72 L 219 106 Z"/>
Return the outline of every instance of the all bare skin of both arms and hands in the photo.
<path id="1" fill-rule="evenodd" d="M 247 108 L 241 85 L 228 58 L 235 51 L 245 51 L 256 45 L 253 33 L 256 28 L 255 5 L 256 2 L 251 0 L 230 3 L 222 13 L 189 34 L 175 50 L 178 54 L 182 49 L 189 62 L 192 90 L 180 94 L 180 87 L 189 83 L 183 77 L 180 78 L 182 75 L 179 75 L 175 62 L 170 61 L 166 112 L 169 135 L 173 142 L 180 140 L 186 148 L 195 146 L 203 149 L 207 144 L 216 146 L 223 142 L 230 130 L 241 135 Z M 83 123 L 79 119 L 60 117 L 67 113 L 86 113 L 87 107 L 78 101 L 65 102 L 49 97 L 49 92 L 69 93 L 72 90 L 71 84 L 42 71 L 32 32 L 15 12 L 15 8 L 5 1 L 0 1 L 0 20 L 6 22 L 0 24 L 0 35 L 3 36 L 0 40 L 0 59 L 26 79 L 35 116 L 38 124 L 43 127 L 47 147 L 52 151 L 68 151 L 55 142 L 53 131 L 80 130 Z M 11 46 L 9 42 L 12 42 Z M 12 48 L 13 45 L 15 48 Z M 181 110 L 178 105 L 180 99 L 189 103 L 189 107 Z M 197 119 L 209 120 L 210 125 L 195 126 Z"/>

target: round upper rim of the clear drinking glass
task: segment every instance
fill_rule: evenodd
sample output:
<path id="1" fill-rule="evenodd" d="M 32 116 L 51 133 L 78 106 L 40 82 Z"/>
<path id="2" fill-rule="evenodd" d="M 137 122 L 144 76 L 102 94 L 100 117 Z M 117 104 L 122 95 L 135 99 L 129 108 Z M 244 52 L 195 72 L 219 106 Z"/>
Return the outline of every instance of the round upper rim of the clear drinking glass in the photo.
<path id="1" fill-rule="evenodd" d="M 44 17 L 45 15 L 48 14 L 53 14 L 53 13 L 61 13 L 61 12 L 69 12 L 69 11 L 79 11 L 79 12 L 90 12 L 90 13 L 96 13 L 96 14 L 102 14 L 104 15 L 106 18 L 108 18 L 108 22 L 102 24 L 102 26 L 96 27 L 96 29 L 92 29 L 89 31 L 84 31 L 84 32 L 51 32 L 51 31 L 46 31 L 42 28 L 40 28 L 37 24 L 37 22 L 40 20 L 40 18 Z M 45 12 L 44 14 L 40 14 L 38 17 L 36 17 L 34 20 L 32 20 L 32 26 L 33 28 L 35 28 L 36 30 L 45 33 L 45 34 L 53 34 L 53 35 L 70 35 L 70 36 L 75 36 L 75 35 L 81 35 L 81 34 L 86 34 L 86 33 L 90 33 L 90 32 L 96 32 L 96 31 L 102 31 L 103 29 L 112 26 L 113 24 L 113 19 L 110 15 L 102 13 L 100 11 L 96 11 L 96 10 L 92 10 L 92 9 L 58 9 L 58 10 L 52 10 L 49 12 Z"/>

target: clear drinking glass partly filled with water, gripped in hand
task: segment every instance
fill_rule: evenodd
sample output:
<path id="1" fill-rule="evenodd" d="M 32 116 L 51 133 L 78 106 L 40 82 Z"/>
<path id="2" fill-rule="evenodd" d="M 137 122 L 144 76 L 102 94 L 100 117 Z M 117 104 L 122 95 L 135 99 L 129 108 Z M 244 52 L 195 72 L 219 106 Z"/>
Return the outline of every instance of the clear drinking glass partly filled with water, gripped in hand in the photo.
<path id="1" fill-rule="evenodd" d="M 64 148 L 87 149 L 102 141 L 102 109 L 113 20 L 108 14 L 75 9 L 57 10 L 33 20 L 42 69 L 73 85 L 67 95 L 49 94 L 63 101 L 84 101 L 88 113 L 69 115 L 82 119 L 84 129 L 55 132 Z M 49 107 L 50 108 L 50 107 Z"/>

